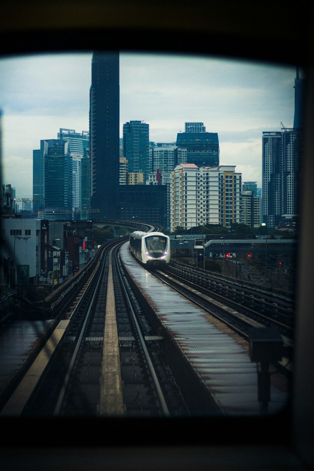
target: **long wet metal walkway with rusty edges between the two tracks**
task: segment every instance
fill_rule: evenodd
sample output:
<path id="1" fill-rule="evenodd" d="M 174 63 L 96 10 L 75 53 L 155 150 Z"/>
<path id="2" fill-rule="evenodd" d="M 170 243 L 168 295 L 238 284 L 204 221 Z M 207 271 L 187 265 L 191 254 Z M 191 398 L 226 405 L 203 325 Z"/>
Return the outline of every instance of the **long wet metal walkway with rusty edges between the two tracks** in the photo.
<path id="1" fill-rule="evenodd" d="M 227 415 L 259 414 L 257 368 L 250 361 L 246 342 L 147 272 L 129 254 L 128 244 L 122 246 L 121 258 L 221 411 Z M 287 403 L 284 389 L 272 384 L 269 413 Z"/>

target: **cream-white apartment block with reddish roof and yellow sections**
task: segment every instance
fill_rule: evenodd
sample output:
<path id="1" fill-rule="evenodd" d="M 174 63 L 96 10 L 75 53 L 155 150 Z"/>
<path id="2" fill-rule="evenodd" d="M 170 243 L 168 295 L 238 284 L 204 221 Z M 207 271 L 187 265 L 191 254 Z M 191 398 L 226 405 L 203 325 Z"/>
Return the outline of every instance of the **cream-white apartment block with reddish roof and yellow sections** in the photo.
<path id="1" fill-rule="evenodd" d="M 170 230 L 240 223 L 241 173 L 235 165 L 197 167 L 178 164 L 171 172 Z"/>

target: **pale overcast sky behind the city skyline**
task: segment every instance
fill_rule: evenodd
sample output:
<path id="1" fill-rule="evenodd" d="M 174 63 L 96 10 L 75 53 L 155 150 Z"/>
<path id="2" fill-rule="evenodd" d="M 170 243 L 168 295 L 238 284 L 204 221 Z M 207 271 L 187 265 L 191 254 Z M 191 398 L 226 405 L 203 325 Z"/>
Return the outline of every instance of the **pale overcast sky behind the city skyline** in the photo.
<path id="1" fill-rule="evenodd" d="M 92 54 L 2 59 L 3 182 L 32 197 L 32 151 L 59 128 L 89 130 Z M 185 122 L 217 132 L 220 164 L 261 186 L 262 131 L 293 126 L 295 69 L 223 59 L 120 54 L 123 123 L 149 124 L 150 140 L 175 141 Z"/>

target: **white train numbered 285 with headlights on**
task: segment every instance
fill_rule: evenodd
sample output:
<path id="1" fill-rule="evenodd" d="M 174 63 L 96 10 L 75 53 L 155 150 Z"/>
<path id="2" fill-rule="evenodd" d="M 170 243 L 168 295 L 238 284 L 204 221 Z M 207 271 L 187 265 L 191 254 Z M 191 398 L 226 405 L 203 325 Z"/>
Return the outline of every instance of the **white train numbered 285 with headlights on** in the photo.
<path id="1" fill-rule="evenodd" d="M 161 232 L 135 231 L 130 234 L 129 250 L 145 265 L 164 265 L 170 261 L 170 238 Z"/>

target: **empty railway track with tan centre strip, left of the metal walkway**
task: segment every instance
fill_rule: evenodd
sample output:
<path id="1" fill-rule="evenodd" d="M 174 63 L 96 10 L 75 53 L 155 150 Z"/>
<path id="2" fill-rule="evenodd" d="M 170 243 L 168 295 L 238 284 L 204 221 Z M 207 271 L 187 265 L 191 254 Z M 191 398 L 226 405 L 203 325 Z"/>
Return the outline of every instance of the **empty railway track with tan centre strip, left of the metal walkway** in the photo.
<path id="1" fill-rule="evenodd" d="M 188 414 L 171 371 L 161 359 L 162 337 L 153 335 L 124 276 L 119 262 L 123 242 L 104 248 L 22 415 Z M 110 300 L 115 301 L 115 334 Z M 118 372 L 114 379 L 112 371 L 105 369 L 108 364 L 114 364 Z M 115 383 L 118 387 L 112 392 Z"/>

